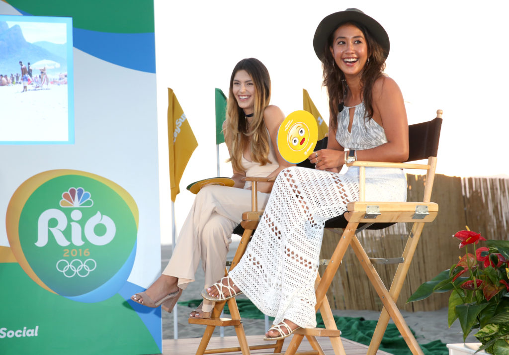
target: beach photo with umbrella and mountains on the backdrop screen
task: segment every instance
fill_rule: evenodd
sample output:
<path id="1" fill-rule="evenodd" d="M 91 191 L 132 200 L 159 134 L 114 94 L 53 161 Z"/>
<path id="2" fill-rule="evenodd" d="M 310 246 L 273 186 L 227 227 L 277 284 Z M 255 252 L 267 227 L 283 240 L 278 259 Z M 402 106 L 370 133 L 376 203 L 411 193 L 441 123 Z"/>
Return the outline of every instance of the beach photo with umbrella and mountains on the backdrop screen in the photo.
<path id="1" fill-rule="evenodd" d="M 0 15 L 0 144 L 73 144 L 70 17 Z"/>

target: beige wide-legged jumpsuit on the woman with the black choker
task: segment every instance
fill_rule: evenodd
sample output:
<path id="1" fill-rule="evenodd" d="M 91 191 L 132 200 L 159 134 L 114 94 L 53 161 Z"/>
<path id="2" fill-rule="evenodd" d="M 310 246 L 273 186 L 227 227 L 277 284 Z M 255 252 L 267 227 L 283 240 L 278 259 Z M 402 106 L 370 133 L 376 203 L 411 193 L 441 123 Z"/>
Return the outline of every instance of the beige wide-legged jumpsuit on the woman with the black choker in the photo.
<path id="1" fill-rule="evenodd" d="M 269 140 L 269 160 L 265 166 L 242 158 L 246 176 L 268 176 L 279 167 Z M 205 288 L 224 276 L 226 255 L 232 232 L 240 224 L 242 213 L 251 210 L 250 183 L 244 188 L 210 185 L 203 187 L 182 225 L 172 258 L 163 275 L 178 278 L 178 286 L 186 289 L 194 281 L 200 260 L 205 271 Z M 269 194 L 258 193 L 258 206 L 265 208 Z M 204 300 L 202 311 L 212 310 L 213 302 Z"/>

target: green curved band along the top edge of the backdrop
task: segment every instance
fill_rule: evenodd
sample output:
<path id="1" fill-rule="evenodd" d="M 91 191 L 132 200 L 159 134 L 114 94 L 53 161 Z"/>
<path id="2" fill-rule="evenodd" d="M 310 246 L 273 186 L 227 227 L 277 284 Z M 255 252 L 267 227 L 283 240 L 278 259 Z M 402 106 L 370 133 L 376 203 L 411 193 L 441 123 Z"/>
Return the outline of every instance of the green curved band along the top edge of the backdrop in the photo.
<path id="1" fill-rule="evenodd" d="M 111 33 L 154 32 L 153 0 L 5 0 L 34 16 L 72 17 L 74 27 Z"/>

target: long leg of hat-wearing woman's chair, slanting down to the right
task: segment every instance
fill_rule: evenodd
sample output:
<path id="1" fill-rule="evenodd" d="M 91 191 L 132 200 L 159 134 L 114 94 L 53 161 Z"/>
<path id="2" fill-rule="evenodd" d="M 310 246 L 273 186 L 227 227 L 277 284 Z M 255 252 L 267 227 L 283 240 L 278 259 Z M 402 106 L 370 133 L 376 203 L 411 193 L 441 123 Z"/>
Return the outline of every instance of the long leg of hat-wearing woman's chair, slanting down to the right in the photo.
<path id="1" fill-rule="evenodd" d="M 401 315 L 400 310 L 396 306 L 394 300 L 389 294 L 389 291 L 387 291 L 387 288 L 383 284 L 383 281 L 380 279 L 380 276 L 378 275 L 375 267 L 371 263 L 369 257 L 367 256 L 366 252 L 362 248 L 362 245 L 357 239 L 356 236 L 353 236 L 352 238 L 352 249 L 355 252 L 355 255 L 357 256 L 357 259 L 359 259 L 362 268 L 366 272 L 367 277 L 370 279 L 371 284 L 375 287 L 375 290 L 378 293 L 378 296 L 380 297 L 382 303 L 384 304 L 385 308 L 387 309 L 387 312 L 389 313 L 390 317 L 394 321 L 394 324 L 397 326 L 398 330 L 400 331 L 403 339 L 407 343 L 408 347 L 410 348 L 410 351 L 414 355 L 423 355 L 419 344 L 417 343 L 417 340 L 415 340 L 415 337 L 413 336 L 412 332 L 410 331 L 410 328 L 408 327 L 407 323 L 405 322 L 405 319 L 403 319 L 403 316 Z"/>

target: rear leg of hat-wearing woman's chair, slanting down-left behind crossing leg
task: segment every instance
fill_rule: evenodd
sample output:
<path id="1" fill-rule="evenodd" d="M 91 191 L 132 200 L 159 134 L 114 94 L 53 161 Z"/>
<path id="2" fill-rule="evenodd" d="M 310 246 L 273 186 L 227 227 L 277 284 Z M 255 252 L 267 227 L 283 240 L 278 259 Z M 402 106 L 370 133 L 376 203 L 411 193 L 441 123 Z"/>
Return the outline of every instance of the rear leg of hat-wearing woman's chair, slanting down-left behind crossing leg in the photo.
<path id="1" fill-rule="evenodd" d="M 412 226 L 412 230 L 407 239 L 407 243 L 402 254 L 402 257 L 405 261 L 398 265 L 398 269 L 396 270 L 396 274 L 394 275 L 394 279 L 392 280 L 389 289 L 389 294 L 391 298 L 394 299 L 394 302 L 398 301 L 400 296 L 400 292 L 408 274 L 408 269 L 410 268 L 410 263 L 412 262 L 412 258 L 415 254 L 415 249 L 417 248 L 417 243 L 419 242 L 423 227 L 424 223 L 414 223 Z M 383 307 L 382 312 L 380 313 L 380 318 L 377 322 L 377 326 L 375 328 L 375 332 L 371 338 L 370 347 L 367 352 L 368 354 L 373 355 L 377 352 L 378 348 L 380 347 L 380 343 L 382 342 L 385 330 L 387 329 L 387 325 L 389 324 L 389 320 L 389 313 L 387 313 L 387 310 L 385 307 Z"/>

